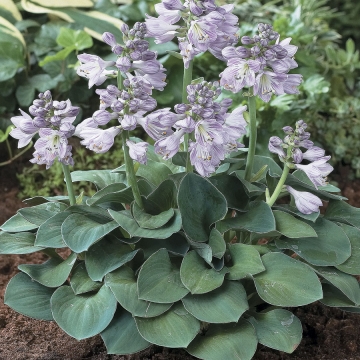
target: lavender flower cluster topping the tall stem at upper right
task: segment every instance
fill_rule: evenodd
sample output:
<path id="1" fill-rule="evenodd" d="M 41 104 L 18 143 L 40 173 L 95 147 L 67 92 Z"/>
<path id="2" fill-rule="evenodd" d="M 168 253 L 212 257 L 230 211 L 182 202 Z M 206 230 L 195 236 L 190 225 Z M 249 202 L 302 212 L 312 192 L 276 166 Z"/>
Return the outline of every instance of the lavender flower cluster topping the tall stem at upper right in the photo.
<path id="1" fill-rule="evenodd" d="M 254 95 L 268 102 L 273 93 L 298 94 L 302 81 L 299 74 L 288 74 L 298 65 L 293 59 L 297 47 L 291 38 L 280 41 L 271 25 L 259 24 L 259 35 L 243 36 L 245 46 L 228 46 L 222 50 L 227 68 L 220 74 L 220 84 L 234 93 L 244 87 L 254 87 Z M 273 43 L 275 41 L 275 43 Z"/>

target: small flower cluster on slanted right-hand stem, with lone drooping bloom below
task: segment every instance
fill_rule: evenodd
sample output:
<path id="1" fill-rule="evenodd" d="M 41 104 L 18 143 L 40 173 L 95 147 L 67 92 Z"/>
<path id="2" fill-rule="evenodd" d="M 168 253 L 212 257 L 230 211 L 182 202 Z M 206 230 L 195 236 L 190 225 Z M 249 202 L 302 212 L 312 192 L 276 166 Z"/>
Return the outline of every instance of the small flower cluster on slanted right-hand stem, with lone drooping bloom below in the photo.
<path id="1" fill-rule="evenodd" d="M 295 129 L 285 126 L 283 128 L 285 138 L 282 140 L 277 136 L 272 136 L 269 140 L 269 150 L 277 154 L 288 166 L 305 172 L 317 189 L 318 186 L 326 185 L 326 177 L 333 171 L 333 167 L 327 163 L 330 156 L 325 156 L 325 150 L 314 146 L 314 143 L 309 140 L 310 133 L 306 131 L 306 128 L 307 124 L 303 120 L 296 122 Z M 307 150 L 303 152 L 301 147 Z M 303 160 L 309 163 L 301 164 Z M 304 214 L 316 212 L 322 205 L 321 200 L 313 194 L 297 191 L 290 186 L 286 188 L 294 196 L 299 211 Z"/>

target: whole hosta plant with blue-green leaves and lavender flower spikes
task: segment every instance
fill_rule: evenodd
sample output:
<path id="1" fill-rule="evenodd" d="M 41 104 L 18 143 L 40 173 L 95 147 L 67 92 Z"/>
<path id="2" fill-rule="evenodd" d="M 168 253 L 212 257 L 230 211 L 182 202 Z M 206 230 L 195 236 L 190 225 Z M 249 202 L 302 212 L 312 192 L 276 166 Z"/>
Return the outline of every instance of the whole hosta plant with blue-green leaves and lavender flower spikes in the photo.
<path id="1" fill-rule="evenodd" d="M 297 47 L 269 24 L 241 37 L 231 5 L 164 0 L 156 10 L 158 18 L 124 25 L 123 39 L 104 33 L 116 60 L 78 55 L 90 87 L 116 79 L 96 90 L 91 118 L 75 127 L 79 108 L 49 91 L 30 115 L 12 118 L 19 147 L 37 136 L 33 163 L 62 164 L 68 195 L 28 199 L 2 225 L 1 254 L 49 256 L 20 265 L 4 301 L 76 339 L 100 334 L 109 354 L 156 344 L 205 360 L 251 359 L 258 343 L 291 353 L 302 328 L 283 307 L 360 304 L 360 210 L 326 182 L 330 156 L 303 120 L 269 139 L 278 163 L 255 154 L 256 97 L 298 93 Z M 147 37 L 177 37 L 171 55 L 183 59 L 184 81 L 174 111 L 156 109 L 152 92 L 166 86 L 166 69 Z M 206 51 L 226 62 L 219 81 L 192 79 L 194 57 Z M 246 92 L 248 103 L 229 112 L 223 88 Z M 154 145 L 130 137 L 136 127 Z M 97 153 L 121 136 L 125 164 L 70 173 L 71 136 Z M 97 192 L 75 194 L 77 181 Z"/>

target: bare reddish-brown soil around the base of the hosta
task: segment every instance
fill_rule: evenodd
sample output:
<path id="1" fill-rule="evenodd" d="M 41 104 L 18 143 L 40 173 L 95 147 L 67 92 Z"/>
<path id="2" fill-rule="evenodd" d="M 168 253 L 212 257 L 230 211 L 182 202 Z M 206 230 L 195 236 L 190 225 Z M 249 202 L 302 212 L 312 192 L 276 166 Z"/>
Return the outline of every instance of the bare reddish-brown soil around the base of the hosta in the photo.
<path id="1" fill-rule="evenodd" d="M 22 163 L 0 167 L 0 223 L 24 204 L 16 197 L 16 172 Z M 350 204 L 360 207 L 360 180 L 347 180 L 342 169 L 335 179 Z M 3 304 L 5 287 L 23 263 L 41 263 L 45 255 L 0 255 L 0 360 L 188 360 L 183 350 L 153 346 L 138 355 L 106 355 L 100 336 L 77 341 L 54 322 L 29 319 Z M 315 303 L 292 309 L 303 324 L 303 340 L 293 354 L 259 345 L 254 360 L 359 360 L 360 316 Z M 219 359 L 222 360 L 222 359 Z M 229 359 L 232 360 L 232 359 Z"/>

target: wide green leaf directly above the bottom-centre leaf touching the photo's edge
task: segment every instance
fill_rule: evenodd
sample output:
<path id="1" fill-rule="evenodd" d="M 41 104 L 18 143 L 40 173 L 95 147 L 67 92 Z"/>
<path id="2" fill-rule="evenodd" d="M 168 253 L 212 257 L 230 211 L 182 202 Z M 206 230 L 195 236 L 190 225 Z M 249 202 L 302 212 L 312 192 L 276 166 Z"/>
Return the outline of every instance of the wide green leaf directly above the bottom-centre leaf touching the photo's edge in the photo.
<path id="1" fill-rule="evenodd" d="M 238 322 L 249 308 L 246 291 L 237 281 L 225 280 L 216 290 L 201 295 L 188 294 L 181 301 L 190 314 L 207 323 Z"/>

